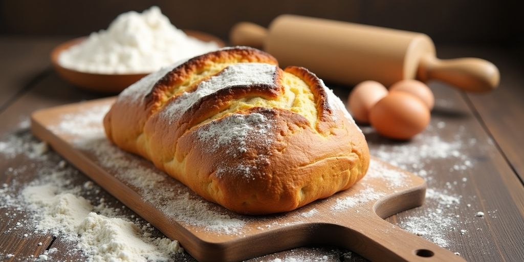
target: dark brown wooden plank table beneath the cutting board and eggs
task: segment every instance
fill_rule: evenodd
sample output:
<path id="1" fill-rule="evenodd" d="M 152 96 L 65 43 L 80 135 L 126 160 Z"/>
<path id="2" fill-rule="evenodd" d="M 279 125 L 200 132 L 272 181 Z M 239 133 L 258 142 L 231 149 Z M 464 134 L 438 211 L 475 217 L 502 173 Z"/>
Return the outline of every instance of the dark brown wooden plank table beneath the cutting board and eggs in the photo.
<path id="1" fill-rule="evenodd" d="M 0 38 L 0 141 L 13 134 L 29 136 L 27 118 L 38 108 L 90 100 L 101 97 L 79 90 L 61 80 L 50 68 L 49 53 L 58 43 L 59 38 Z M 524 65 L 521 53 L 497 49 L 476 47 L 440 47 L 441 58 L 455 56 L 482 57 L 493 61 L 500 69 L 501 84 L 499 89 L 490 94 L 466 94 L 451 89 L 441 83 L 431 83 L 435 93 L 436 106 L 432 112 L 432 121 L 419 139 L 408 143 L 399 143 L 379 137 L 373 129 L 364 127 L 366 138 L 372 152 L 393 154 L 387 157 L 391 161 L 401 162 L 413 172 L 424 174 L 428 179 L 428 188 L 444 190 L 461 199 L 451 210 L 455 223 L 446 227 L 442 235 L 449 245 L 447 248 L 460 253 L 470 261 L 522 261 L 524 260 Z M 520 57 L 519 57 L 520 56 Z M 335 88 L 335 93 L 347 97 L 350 89 L 343 86 Z M 423 138 L 448 141 L 461 150 L 456 159 L 468 159 L 466 168 L 461 168 L 446 158 L 417 156 L 423 164 L 409 163 L 409 159 L 395 159 L 402 156 L 399 152 L 407 147 L 417 149 L 429 143 Z M 449 148 L 443 147 L 443 150 Z M 404 150 L 404 151 L 402 151 Z M 396 152 L 396 153 L 395 153 Z M 57 164 L 61 158 L 50 152 L 48 161 Z M 396 154 L 396 155 L 395 155 Z M 417 154 L 411 152 L 411 154 Z M 460 155 L 460 156 L 459 156 Z M 462 157 L 464 156 L 464 157 Z M 456 162 L 456 161 L 455 161 Z M 53 163 L 51 163 L 53 164 Z M 414 164 L 414 165 L 413 165 Z M 17 188 L 23 188 L 35 178 L 35 169 L 31 160 L 7 158 L 0 154 L 0 184 L 14 180 L 13 169 L 24 168 L 16 174 Z M 82 184 L 89 179 L 82 174 L 75 175 L 73 183 Z M 105 192 L 101 195 L 107 202 L 120 206 L 118 201 Z M 428 211 L 439 208 L 438 201 L 428 200 L 420 208 L 402 212 L 387 220 L 398 225 L 406 225 L 413 217 L 427 215 Z M 13 212 L 0 207 L 0 260 L 29 260 L 31 255 L 38 255 L 46 249 L 58 248 L 53 260 L 83 260 L 76 256 L 61 256 L 60 250 L 68 250 L 71 244 L 60 237 L 30 234 L 30 229 L 16 227 L 17 219 L 6 213 Z M 475 216 L 483 211 L 483 217 Z M 133 212 L 124 209 L 123 214 Z M 18 217 L 23 217 L 19 212 Z M 434 223 L 434 222 L 433 222 Z M 12 228 L 12 230 L 9 230 Z M 14 229 L 13 229 L 14 228 Z M 465 230 L 461 233 L 461 230 Z M 161 233 L 157 232 L 161 236 Z M 42 242 L 42 245 L 37 243 Z M 13 254 L 7 259 L 5 255 Z M 177 259 L 192 261 L 187 255 Z M 253 261 L 280 258 L 303 260 L 310 258 L 323 261 L 363 261 L 362 257 L 349 250 L 337 247 L 301 247 L 287 250 Z"/>

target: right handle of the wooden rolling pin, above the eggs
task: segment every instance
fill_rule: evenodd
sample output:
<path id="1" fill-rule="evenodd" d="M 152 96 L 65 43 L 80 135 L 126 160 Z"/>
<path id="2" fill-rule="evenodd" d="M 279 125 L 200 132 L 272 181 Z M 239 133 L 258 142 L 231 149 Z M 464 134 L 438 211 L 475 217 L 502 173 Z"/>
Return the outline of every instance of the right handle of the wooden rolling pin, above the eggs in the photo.
<path id="1" fill-rule="evenodd" d="M 423 82 L 441 80 L 467 92 L 483 93 L 497 88 L 500 73 L 493 63 L 479 58 L 440 60 L 427 56 L 420 61 L 417 78 Z"/>

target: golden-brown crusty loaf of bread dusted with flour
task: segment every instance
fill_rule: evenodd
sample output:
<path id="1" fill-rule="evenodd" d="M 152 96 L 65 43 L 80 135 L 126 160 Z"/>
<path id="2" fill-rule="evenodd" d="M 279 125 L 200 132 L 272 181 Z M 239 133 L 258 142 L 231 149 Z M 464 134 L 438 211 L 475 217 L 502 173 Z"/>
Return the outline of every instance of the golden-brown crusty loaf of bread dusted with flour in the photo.
<path id="1" fill-rule="evenodd" d="M 253 48 L 148 75 L 118 96 L 104 127 L 118 147 L 242 214 L 326 198 L 369 165 L 364 135 L 322 80 Z"/>

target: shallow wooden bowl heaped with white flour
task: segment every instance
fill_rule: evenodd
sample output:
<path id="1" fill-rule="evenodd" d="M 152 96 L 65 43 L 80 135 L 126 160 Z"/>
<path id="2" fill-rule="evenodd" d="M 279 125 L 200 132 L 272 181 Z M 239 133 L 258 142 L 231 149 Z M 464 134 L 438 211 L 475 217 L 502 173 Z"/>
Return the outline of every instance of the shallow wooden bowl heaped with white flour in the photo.
<path id="1" fill-rule="evenodd" d="M 153 6 L 123 13 L 105 30 L 62 43 L 51 52 L 51 62 L 80 88 L 118 93 L 151 72 L 221 47 L 217 37 L 176 28 Z"/>

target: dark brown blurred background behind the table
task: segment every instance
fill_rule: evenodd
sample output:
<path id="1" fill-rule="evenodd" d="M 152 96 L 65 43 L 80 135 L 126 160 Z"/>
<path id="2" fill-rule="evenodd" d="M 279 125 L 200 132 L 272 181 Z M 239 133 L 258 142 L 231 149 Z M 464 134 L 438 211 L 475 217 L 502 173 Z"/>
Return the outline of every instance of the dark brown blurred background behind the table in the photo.
<path id="1" fill-rule="evenodd" d="M 0 2 L 0 35 L 83 36 L 107 28 L 118 14 L 151 5 L 159 6 L 179 28 L 223 39 L 238 21 L 267 26 L 276 16 L 290 13 L 424 32 L 438 45 L 524 46 L 520 1 L 474 0 L 6 0 Z"/>

